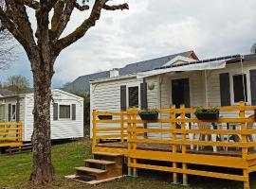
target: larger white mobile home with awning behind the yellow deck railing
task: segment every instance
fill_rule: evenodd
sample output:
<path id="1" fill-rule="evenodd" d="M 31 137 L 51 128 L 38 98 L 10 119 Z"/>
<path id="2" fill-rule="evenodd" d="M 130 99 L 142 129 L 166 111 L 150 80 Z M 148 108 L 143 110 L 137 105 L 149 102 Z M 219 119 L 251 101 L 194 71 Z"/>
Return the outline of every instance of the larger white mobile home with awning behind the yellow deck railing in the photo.
<path id="1" fill-rule="evenodd" d="M 193 58 L 176 56 L 156 69 L 91 81 L 91 111 L 164 109 L 181 104 L 229 106 L 239 101 L 256 105 L 255 54 L 210 60 Z"/>

